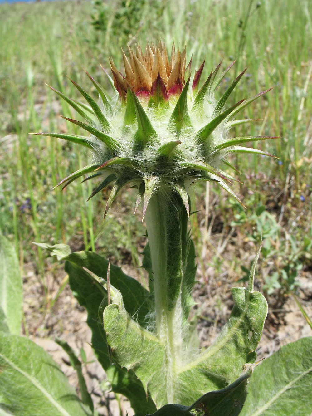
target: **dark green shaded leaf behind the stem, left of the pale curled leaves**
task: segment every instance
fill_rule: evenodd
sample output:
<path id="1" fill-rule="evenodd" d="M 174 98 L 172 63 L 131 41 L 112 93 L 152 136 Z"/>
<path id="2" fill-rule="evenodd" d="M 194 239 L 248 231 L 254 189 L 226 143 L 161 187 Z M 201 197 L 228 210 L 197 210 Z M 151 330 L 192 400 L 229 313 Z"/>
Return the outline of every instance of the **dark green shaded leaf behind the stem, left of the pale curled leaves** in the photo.
<path id="1" fill-rule="evenodd" d="M 88 312 L 87 324 L 92 331 L 92 347 L 97 359 L 106 371 L 112 390 L 129 399 L 137 416 L 145 416 L 146 413 L 155 411 L 156 407 L 150 396 L 146 400 L 142 383 L 133 371 L 122 369 L 116 362 L 111 364 L 103 327 L 103 313 L 99 313 L 103 299 L 107 305 L 106 290 L 95 277 L 83 269 L 86 267 L 104 280 L 107 277 L 107 266 L 108 261 L 95 253 L 90 251 L 76 252 L 72 253 L 69 260 L 65 262 L 65 271 L 69 275 L 69 284 L 74 296 Z M 144 314 L 149 310 L 148 292 L 146 293 L 139 282 L 125 275 L 119 267 L 114 265 L 110 266 L 110 280 L 125 293 L 125 302 L 130 314 L 143 322 Z M 146 299 L 145 302 L 142 302 L 142 297 Z M 142 309 L 139 307 L 140 305 L 142 305 Z"/>

